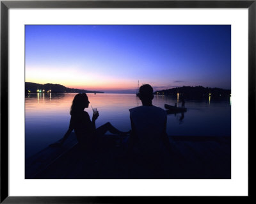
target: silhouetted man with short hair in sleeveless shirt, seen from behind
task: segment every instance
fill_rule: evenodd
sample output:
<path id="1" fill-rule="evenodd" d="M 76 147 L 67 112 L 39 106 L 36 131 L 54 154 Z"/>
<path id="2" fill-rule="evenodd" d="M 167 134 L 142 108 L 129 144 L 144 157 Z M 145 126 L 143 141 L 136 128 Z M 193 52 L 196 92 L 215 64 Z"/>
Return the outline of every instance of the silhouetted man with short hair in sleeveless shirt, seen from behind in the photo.
<path id="1" fill-rule="evenodd" d="M 170 143 L 166 134 L 166 111 L 152 105 L 153 88 L 149 84 L 140 87 L 139 97 L 142 106 L 130 109 L 131 119 L 131 148 L 149 159 L 159 157 L 163 147 L 170 150 Z"/>

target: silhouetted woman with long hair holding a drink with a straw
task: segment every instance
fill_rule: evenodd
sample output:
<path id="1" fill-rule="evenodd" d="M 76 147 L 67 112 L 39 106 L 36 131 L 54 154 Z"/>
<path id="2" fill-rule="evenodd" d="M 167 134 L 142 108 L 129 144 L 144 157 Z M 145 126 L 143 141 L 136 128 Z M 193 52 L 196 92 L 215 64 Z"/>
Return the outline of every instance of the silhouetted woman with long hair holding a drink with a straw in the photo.
<path id="1" fill-rule="evenodd" d="M 111 123 L 105 123 L 104 125 L 95 127 L 95 120 L 99 117 L 99 113 L 96 112 L 92 116 L 92 121 L 90 120 L 89 114 L 84 111 L 85 108 L 89 107 L 90 101 L 86 93 L 78 93 L 72 102 L 72 106 L 70 108 L 70 124 L 69 129 L 60 144 L 62 144 L 72 130 L 75 130 L 77 141 L 80 147 L 85 148 L 86 150 L 90 150 L 95 148 L 99 144 L 100 137 L 104 136 L 106 132 L 111 132 L 112 134 L 119 134 L 125 136 L 129 132 L 122 132 Z"/>

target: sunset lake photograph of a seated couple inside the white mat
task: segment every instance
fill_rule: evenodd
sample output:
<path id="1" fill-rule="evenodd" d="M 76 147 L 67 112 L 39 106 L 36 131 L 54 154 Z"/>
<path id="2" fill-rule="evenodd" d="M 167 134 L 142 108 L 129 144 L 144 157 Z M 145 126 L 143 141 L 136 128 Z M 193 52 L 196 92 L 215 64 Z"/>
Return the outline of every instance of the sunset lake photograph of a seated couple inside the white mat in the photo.
<path id="1" fill-rule="evenodd" d="M 26 180 L 231 179 L 230 24 L 24 27 Z"/>

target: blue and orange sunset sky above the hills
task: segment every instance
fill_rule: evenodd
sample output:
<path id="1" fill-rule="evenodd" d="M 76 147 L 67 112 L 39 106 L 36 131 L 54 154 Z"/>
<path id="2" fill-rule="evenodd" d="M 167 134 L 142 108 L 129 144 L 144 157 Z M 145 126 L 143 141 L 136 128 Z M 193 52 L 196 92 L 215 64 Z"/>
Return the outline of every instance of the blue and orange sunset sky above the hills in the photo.
<path id="1" fill-rule="evenodd" d="M 26 26 L 26 82 L 135 93 L 231 88 L 231 26 Z"/>

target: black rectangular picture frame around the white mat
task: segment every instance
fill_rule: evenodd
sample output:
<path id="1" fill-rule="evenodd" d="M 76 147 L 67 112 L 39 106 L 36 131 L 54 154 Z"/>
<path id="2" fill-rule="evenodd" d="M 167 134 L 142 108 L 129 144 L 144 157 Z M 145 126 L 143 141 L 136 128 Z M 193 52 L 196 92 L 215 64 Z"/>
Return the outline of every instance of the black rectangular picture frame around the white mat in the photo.
<path id="1" fill-rule="evenodd" d="M 1 1 L 1 200 L 2 203 L 131 203 L 143 201 L 156 201 L 157 203 L 189 199 L 193 202 L 198 197 L 154 196 L 154 197 L 123 197 L 123 196 L 9 196 L 8 194 L 8 10 L 10 8 L 248 8 L 248 144 L 255 136 L 256 111 L 255 111 L 255 65 L 256 65 L 256 0 L 214 0 L 214 1 Z M 249 161 L 250 145 L 248 146 Z M 248 161 L 249 169 L 250 162 Z M 249 171 L 248 173 L 250 173 Z M 250 177 L 250 175 L 249 175 Z M 248 179 L 248 196 L 241 199 L 250 199 L 252 190 Z M 211 198 L 216 201 L 220 197 Z M 238 199 L 237 197 L 228 197 Z M 209 200 L 209 197 L 200 197 Z M 223 199 L 220 198 L 220 199 Z M 240 200 L 240 198 L 239 198 Z"/>

